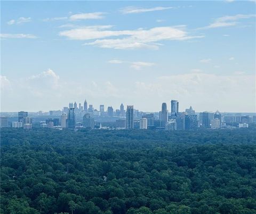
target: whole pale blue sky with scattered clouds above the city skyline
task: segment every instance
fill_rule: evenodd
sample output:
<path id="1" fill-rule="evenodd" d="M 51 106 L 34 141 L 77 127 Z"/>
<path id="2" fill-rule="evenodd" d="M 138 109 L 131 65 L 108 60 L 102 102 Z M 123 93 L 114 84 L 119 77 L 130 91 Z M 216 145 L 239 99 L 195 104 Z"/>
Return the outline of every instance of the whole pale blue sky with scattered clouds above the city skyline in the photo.
<path id="1" fill-rule="evenodd" d="M 256 112 L 255 1 L 2 1 L 1 111 Z"/>

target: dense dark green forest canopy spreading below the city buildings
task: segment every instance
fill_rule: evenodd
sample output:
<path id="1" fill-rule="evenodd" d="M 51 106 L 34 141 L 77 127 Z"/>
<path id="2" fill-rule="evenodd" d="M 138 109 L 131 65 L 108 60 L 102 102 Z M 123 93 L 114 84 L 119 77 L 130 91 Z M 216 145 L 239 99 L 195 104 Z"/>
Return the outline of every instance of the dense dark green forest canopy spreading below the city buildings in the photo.
<path id="1" fill-rule="evenodd" d="M 255 210 L 255 129 L 1 130 L 1 213 Z"/>

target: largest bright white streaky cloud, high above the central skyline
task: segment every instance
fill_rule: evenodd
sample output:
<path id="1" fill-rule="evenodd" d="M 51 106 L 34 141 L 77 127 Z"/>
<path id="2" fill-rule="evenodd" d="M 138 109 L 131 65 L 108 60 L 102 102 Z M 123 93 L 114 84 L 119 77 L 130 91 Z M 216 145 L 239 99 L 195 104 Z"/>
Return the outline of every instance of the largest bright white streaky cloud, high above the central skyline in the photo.
<path id="1" fill-rule="evenodd" d="M 204 36 L 189 36 L 183 29 L 184 26 L 175 27 L 155 27 L 151 29 L 137 30 L 105 30 L 97 26 L 89 26 L 84 28 L 75 28 L 61 31 L 60 36 L 69 39 L 91 40 L 93 42 L 84 45 L 94 45 L 103 48 L 115 49 L 135 49 L 135 48 L 151 48 L 158 49 L 159 41 L 163 40 L 188 40 L 192 38 L 202 38 Z M 102 39 L 106 37 L 118 37 L 110 39 Z"/>

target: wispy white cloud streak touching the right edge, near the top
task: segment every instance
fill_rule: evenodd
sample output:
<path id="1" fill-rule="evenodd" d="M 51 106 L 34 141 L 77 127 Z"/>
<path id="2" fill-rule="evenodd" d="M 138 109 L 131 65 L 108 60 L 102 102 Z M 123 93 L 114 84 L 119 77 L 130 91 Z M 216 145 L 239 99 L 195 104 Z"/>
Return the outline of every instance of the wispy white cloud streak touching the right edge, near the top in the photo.
<path id="1" fill-rule="evenodd" d="M 198 29 L 210 29 L 210 28 L 219 28 L 219 27 L 229 27 L 236 26 L 239 19 L 249 19 L 255 17 L 255 14 L 237 14 L 237 15 L 227 15 L 225 17 L 220 17 L 214 20 L 209 26 L 205 26 Z"/>

